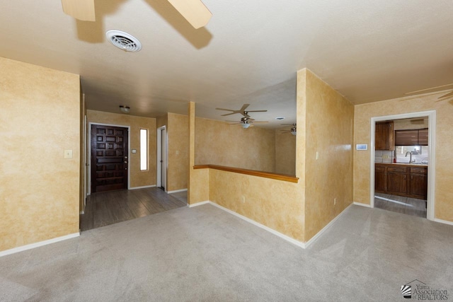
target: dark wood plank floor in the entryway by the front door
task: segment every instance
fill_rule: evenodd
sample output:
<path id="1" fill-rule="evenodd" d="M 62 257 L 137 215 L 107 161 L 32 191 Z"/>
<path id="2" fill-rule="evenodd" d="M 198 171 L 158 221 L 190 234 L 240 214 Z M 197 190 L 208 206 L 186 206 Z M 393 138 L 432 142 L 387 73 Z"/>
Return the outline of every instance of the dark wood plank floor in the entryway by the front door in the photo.
<path id="1" fill-rule="evenodd" d="M 108 226 L 186 204 L 187 192 L 167 194 L 156 187 L 94 193 L 86 199 L 85 214 L 80 215 L 80 230 Z"/>

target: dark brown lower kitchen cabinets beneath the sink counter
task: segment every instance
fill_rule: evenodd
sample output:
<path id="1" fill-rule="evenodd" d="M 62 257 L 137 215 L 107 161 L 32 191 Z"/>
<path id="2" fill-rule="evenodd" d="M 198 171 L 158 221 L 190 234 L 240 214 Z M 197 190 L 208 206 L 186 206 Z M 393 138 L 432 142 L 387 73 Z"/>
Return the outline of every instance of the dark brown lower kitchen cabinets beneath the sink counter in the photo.
<path id="1" fill-rule="evenodd" d="M 426 199 L 428 196 L 426 165 L 376 163 L 374 192 Z"/>

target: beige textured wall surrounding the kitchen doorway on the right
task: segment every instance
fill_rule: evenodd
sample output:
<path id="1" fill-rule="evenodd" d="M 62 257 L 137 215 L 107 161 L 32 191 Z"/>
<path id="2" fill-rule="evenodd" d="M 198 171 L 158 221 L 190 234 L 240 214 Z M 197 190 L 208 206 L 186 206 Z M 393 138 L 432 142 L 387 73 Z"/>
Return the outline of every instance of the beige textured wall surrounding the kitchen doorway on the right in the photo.
<path id="1" fill-rule="evenodd" d="M 445 93 L 444 93 L 445 94 Z M 370 144 L 371 118 L 436 110 L 435 150 L 453 149 L 453 100 L 437 102 L 442 95 L 396 98 L 355 106 L 354 144 Z M 368 151 L 354 151 L 354 201 L 369 204 Z M 435 218 L 453 221 L 453 153 L 437 153 L 435 165 Z"/>

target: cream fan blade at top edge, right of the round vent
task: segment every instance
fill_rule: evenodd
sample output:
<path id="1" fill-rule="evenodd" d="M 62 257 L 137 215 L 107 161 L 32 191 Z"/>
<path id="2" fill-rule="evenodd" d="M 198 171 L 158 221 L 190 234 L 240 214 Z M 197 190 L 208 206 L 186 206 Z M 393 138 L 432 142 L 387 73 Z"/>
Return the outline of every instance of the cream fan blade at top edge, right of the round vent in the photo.
<path id="1" fill-rule="evenodd" d="M 200 0 L 168 0 L 193 28 L 205 26 L 212 16 L 205 4 Z"/>

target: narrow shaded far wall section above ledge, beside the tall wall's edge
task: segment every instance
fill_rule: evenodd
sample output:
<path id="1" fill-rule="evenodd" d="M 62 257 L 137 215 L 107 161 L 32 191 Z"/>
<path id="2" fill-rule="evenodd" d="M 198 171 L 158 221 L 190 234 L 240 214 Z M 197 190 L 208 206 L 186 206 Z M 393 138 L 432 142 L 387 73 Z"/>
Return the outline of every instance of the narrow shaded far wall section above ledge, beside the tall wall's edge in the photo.
<path id="1" fill-rule="evenodd" d="M 296 137 L 275 130 L 275 173 L 296 175 Z"/>

